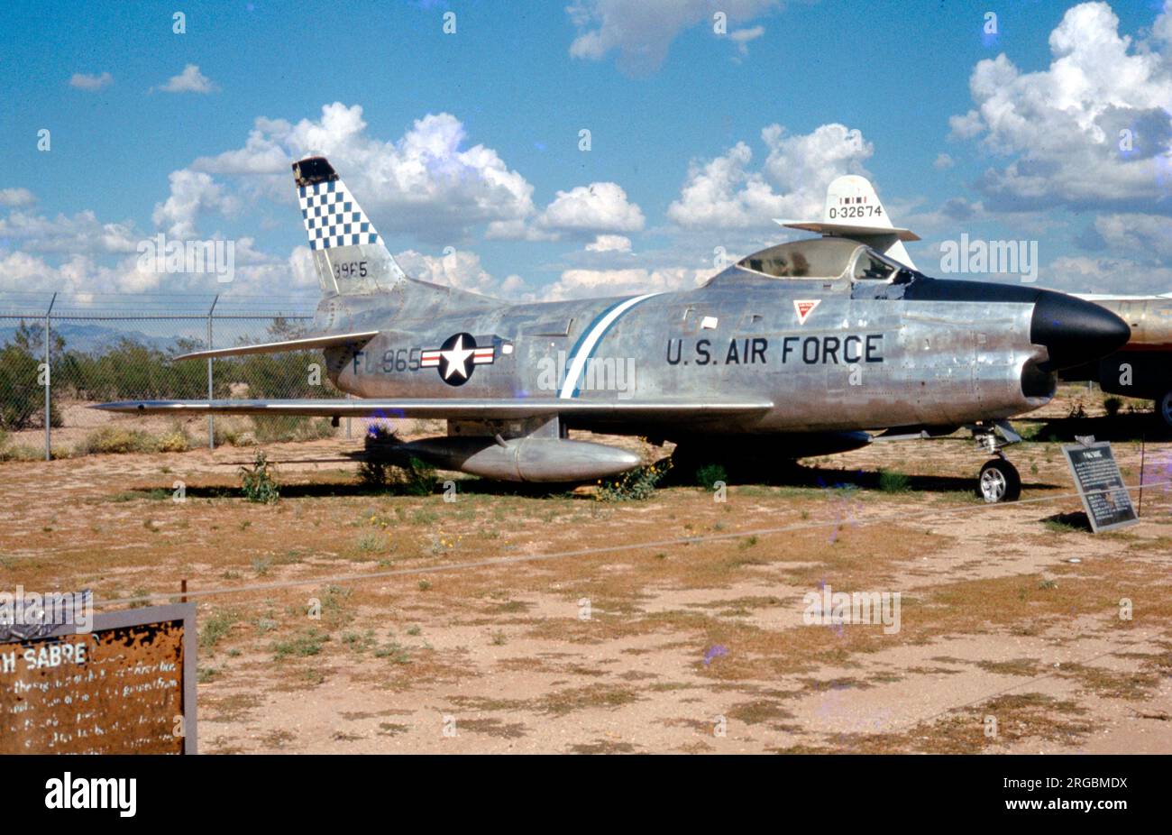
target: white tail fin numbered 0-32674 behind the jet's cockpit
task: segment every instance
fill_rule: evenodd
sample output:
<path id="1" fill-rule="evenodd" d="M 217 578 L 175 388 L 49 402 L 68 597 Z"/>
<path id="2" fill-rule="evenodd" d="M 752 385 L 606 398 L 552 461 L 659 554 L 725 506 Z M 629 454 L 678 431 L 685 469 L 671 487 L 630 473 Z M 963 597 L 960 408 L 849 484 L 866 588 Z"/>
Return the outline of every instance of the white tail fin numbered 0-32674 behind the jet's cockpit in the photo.
<path id="1" fill-rule="evenodd" d="M 904 242 L 919 240 L 920 236 L 908 229 L 892 225 L 891 217 L 879 202 L 879 195 L 866 177 L 847 174 L 827 185 L 820 222 L 777 220 L 777 223 L 790 229 L 858 240 L 915 269 L 912 257 L 904 249 Z"/>

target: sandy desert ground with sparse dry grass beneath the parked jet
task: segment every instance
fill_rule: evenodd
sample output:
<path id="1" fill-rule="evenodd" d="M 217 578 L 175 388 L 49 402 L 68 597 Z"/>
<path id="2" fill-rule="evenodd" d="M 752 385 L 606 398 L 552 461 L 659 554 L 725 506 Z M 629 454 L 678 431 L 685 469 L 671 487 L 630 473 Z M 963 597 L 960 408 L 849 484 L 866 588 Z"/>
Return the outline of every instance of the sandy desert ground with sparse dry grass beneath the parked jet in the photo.
<path id="1" fill-rule="evenodd" d="M 1084 398 L 1095 433 L 1081 388 L 1031 418 Z M 265 444 L 271 504 L 240 495 L 252 447 L 0 463 L 0 584 L 117 609 L 186 579 L 203 753 L 1172 752 L 1158 432 L 1142 521 L 1097 536 L 1057 442 L 1007 450 L 1008 505 L 975 498 L 988 456 L 960 436 L 806 459 L 724 501 L 440 474 L 445 501 L 360 483 L 361 434 Z M 1138 436 L 1113 447 L 1138 483 Z M 825 585 L 899 592 L 899 630 L 804 623 Z"/>

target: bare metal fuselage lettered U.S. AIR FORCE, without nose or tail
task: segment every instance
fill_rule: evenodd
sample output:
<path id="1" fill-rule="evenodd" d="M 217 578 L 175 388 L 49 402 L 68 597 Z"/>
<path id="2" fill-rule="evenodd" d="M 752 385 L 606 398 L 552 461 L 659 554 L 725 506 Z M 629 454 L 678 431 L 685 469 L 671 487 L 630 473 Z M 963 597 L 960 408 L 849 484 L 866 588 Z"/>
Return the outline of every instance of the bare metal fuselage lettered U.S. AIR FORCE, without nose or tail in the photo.
<path id="1" fill-rule="evenodd" d="M 1052 396 L 1052 380 L 1027 373 L 1047 353 L 1030 341 L 1034 305 L 1021 300 L 915 300 L 886 283 L 779 280 L 730 267 L 704 287 L 652 296 L 626 311 L 592 352 L 592 385 L 574 393 L 566 391 L 566 366 L 614 299 L 451 304 L 449 292 L 413 293 L 410 303 L 379 294 L 325 300 L 321 330 L 380 330 L 359 352 L 327 352 L 335 385 L 361 398 L 452 396 L 437 369 L 418 360 L 466 332 L 477 344 L 492 339 L 496 357 L 461 381 L 459 396 L 774 403 L 763 414 L 721 420 L 567 421 L 620 434 L 954 426 L 1029 412 Z M 817 301 L 800 324 L 796 301 Z M 1023 375 L 1034 380 L 1026 391 Z"/>

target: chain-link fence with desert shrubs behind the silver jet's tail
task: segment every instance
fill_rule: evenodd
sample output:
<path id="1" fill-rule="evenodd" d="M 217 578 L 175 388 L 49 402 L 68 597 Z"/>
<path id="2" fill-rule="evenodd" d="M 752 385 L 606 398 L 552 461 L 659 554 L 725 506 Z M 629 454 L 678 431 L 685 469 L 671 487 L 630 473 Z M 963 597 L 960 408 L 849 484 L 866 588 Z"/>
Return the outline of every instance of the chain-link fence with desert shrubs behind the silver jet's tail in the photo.
<path id="1" fill-rule="evenodd" d="M 0 457 L 332 436 L 328 419 L 177 419 L 87 408 L 109 400 L 342 396 L 319 352 L 173 361 L 206 347 L 295 338 L 308 330 L 316 301 L 0 292 Z"/>

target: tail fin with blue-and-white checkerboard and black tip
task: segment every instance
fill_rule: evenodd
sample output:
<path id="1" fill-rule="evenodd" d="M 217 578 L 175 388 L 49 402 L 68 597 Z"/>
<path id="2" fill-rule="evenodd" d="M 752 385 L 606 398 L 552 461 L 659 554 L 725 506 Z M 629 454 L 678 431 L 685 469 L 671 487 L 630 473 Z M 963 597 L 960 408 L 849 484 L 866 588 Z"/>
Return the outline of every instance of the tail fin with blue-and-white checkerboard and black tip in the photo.
<path id="1" fill-rule="evenodd" d="M 326 157 L 293 163 L 293 178 L 323 294 L 375 293 L 403 280 L 379 230 Z"/>

